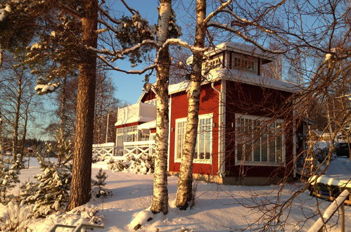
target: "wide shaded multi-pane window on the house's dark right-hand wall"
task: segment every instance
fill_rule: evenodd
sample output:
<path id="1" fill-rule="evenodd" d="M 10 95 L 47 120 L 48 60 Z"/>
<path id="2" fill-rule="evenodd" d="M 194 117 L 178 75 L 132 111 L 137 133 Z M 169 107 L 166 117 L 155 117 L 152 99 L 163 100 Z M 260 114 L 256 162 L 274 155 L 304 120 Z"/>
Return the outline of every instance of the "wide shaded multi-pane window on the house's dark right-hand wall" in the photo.
<path id="1" fill-rule="evenodd" d="M 236 161 L 282 165 L 285 162 L 283 120 L 236 114 Z"/>

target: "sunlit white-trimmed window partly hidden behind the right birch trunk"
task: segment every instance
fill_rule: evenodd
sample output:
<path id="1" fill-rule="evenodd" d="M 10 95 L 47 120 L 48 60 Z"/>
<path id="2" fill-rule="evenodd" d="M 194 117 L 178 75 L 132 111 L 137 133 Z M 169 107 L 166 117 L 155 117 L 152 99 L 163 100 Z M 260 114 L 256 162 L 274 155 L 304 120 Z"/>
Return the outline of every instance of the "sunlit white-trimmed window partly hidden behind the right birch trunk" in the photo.
<path id="1" fill-rule="evenodd" d="M 175 160 L 180 160 L 185 143 L 186 117 L 176 120 Z M 198 116 L 198 136 L 194 161 L 211 161 L 212 154 L 212 114 Z"/>

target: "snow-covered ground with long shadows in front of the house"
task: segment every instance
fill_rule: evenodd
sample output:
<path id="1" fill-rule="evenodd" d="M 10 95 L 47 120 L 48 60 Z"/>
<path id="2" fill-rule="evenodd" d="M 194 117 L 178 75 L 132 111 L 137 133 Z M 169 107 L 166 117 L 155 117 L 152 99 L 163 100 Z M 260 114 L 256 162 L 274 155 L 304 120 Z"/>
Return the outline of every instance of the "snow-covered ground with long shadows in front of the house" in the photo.
<path id="1" fill-rule="evenodd" d="M 331 170 L 347 170 L 351 176 L 350 163 L 347 160 L 338 158 L 331 162 Z M 345 161 L 345 162 L 343 162 Z M 340 167 L 340 164 L 342 167 Z M 32 175 L 39 172 L 39 165 L 30 169 L 23 169 L 20 175 L 21 181 L 32 179 Z M 333 168 L 335 166 L 335 169 Z M 93 168 L 93 178 L 98 169 Z M 151 205 L 153 191 L 153 175 L 132 174 L 127 172 L 110 172 L 106 170 L 106 188 L 113 191 L 112 197 L 93 198 L 89 207 L 97 207 L 98 214 L 105 215 L 103 224 L 105 228 L 94 229 L 94 231 L 133 231 L 130 225 L 132 219 L 142 216 L 148 217 L 146 210 Z M 282 191 L 281 200 L 291 197 L 294 190 L 300 188 L 300 183 L 292 183 Z M 254 206 L 260 202 L 277 195 L 280 186 L 225 186 L 215 183 L 198 182 L 196 191 L 196 205 L 192 210 L 180 211 L 174 208 L 174 195 L 177 191 L 177 177 L 168 178 L 170 212 L 167 215 L 157 214 L 153 220 L 148 221 L 139 231 L 181 231 L 186 228 L 193 231 L 233 231 L 253 230 L 257 226 L 257 219 L 263 214 L 245 205 Z M 321 212 L 328 207 L 330 202 L 318 200 Z M 142 212 L 146 210 L 145 212 Z M 1 211 L 1 209 L 0 209 Z M 141 214 L 138 214 L 142 212 Z M 312 217 L 305 224 L 305 217 L 310 217 L 317 212 L 316 199 L 309 195 L 309 192 L 301 193 L 293 201 L 290 212 L 285 212 L 287 218 L 285 231 L 307 231 L 317 217 Z M 345 218 L 351 218 L 351 207 L 345 207 Z M 272 213 L 265 212 L 266 215 Z M 138 215 L 138 216 L 137 216 Z M 305 215 L 305 216 L 304 216 Z M 73 214 L 55 215 L 48 219 L 29 222 L 33 231 L 48 231 L 53 223 L 77 224 L 80 217 Z M 332 222 L 338 219 L 338 213 L 334 215 Z M 81 219 L 80 219 L 81 220 Z M 251 225 L 252 224 L 252 225 Z M 332 224 L 332 223 L 331 223 Z M 346 220 L 346 228 L 350 227 L 350 220 Z M 339 228 L 332 228 L 331 231 L 338 231 Z"/>

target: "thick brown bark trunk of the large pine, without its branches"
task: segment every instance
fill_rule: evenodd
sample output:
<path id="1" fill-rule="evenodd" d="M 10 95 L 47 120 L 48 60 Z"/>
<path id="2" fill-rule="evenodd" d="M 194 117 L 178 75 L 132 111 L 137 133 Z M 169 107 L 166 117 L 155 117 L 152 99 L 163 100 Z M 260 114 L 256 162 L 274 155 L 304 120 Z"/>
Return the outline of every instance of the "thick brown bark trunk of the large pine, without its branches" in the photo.
<path id="1" fill-rule="evenodd" d="M 82 18 L 82 44 L 96 48 L 98 1 L 82 3 L 85 15 Z M 90 200 L 91 155 L 94 130 L 94 103 L 96 85 L 96 56 L 83 50 L 79 65 L 77 124 L 75 127 L 75 148 L 73 157 L 72 182 L 68 210 L 84 205 Z"/>

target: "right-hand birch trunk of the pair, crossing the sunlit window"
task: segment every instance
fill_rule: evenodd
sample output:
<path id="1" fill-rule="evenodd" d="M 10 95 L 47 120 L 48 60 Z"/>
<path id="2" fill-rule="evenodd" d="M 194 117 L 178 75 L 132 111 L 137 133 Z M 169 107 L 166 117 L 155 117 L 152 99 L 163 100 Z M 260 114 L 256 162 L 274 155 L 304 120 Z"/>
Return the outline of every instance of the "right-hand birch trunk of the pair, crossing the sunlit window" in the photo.
<path id="1" fill-rule="evenodd" d="M 194 46 L 203 48 L 205 46 L 206 1 L 196 2 L 196 37 Z M 175 205 L 180 210 L 186 210 L 192 198 L 193 184 L 193 158 L 198 134 L 198 108 L 200 105 L 201 66 L 203 56 L 194 53 L 191 73 L 191 86 L 188 92 L 188 117 L 186 120 L 186 135 L 184 149 L 181 157 L 179 170 L 178 189 Z"/>

